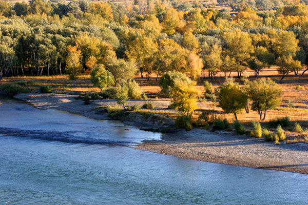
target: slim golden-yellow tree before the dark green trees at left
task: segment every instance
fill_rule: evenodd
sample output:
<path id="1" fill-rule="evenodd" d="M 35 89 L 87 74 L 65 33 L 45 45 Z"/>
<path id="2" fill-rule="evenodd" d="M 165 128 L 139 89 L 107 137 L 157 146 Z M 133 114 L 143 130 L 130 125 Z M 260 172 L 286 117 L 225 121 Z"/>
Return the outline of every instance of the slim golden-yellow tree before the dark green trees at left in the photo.
<path id="1" fill-rule="evenodd" d="M 66 67 L 69 73 L 69 78 L 73 80 L 73 86 L 75 86 L 76 76 L 81 72 L 82 65 L 81 60 L 81 50 L 78 50 L 75 46 L 67 47 L 68 55 L 66 57 Z"/>

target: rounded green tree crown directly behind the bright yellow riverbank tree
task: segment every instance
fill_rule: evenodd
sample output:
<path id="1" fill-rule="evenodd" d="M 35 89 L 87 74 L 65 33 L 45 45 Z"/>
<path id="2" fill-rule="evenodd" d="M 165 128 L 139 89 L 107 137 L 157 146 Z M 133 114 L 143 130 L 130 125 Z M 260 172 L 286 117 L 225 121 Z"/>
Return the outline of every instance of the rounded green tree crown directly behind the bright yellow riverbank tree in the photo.
<path id="1" fill-rule="evenodd" d="M 159 81 L 159 87 L 161 87 L 161 92 L 169 94 L 172 87 L 175 85 L 175 81 L 181 80 L 189 83 L 191 80 L 184 74 L 180 72 L 167 72 L 163 74 Z"/>

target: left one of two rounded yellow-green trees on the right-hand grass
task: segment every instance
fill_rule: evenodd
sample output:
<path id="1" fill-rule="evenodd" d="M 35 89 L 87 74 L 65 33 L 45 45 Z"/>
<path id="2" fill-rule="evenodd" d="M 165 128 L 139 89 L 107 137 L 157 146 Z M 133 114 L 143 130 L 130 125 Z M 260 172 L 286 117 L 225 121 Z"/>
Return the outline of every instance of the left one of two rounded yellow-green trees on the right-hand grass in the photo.
<path id="1" fill-rule="evenodd" d="M 227 79 L 218 89 L 219 107 L 226 113 L 233 113 L 238 120 L 237 114 L 246 106 L 246 95 L 234 80 Z"/>

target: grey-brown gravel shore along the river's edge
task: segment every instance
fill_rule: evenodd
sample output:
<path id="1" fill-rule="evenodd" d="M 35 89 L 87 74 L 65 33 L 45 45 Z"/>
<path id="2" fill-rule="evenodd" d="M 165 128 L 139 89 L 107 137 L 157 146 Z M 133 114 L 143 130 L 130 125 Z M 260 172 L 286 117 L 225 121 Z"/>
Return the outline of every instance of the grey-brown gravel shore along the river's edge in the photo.
<path id="1" fill-rule="evenodd" d="M 98 114 L 93 108 L 115 104 L 114 100 L 95 100 L 85 106 L 82 100 L 76 100 L 74 97 L 62 94 L 19 94 L 15 96 L 38 108 L 54 108 L 95 119 L 108 119 L 108 116 Z M 128 105 L 142 104 L 144 101 L 133 100 Z M 155 103 L 158 106 L 168 105 L 168 102 L 163 100 L 155 101 Z M 125 121 L 125 123 L 133 125 L 133 122 Z M 163 134 L 162 139 L 163 141 L 145 141 L 136 149 L 226 165 L 308 174 L 308 146 L 303 143 L 286 145 L 282 142 L 280 145 L 275 145 L 273 142 L 265 142 L 264 139 L 211 133 L 203 129 L 193 129 L 189 132 L 179 130 L 175 133 Z"/>

